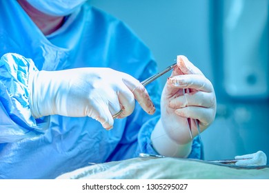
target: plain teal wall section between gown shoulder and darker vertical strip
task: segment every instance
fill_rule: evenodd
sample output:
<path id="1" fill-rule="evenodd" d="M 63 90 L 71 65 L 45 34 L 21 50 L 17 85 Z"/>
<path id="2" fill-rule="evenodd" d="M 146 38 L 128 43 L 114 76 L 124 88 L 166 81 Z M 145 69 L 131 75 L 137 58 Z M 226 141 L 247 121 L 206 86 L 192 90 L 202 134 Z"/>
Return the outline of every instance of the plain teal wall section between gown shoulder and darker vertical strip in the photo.
<path id="1" fill-rule="evenodd" d="M 206 1 L 90 0 L 125 21 L 152 50 L 159 70 L 186 55 L 212 79 L 209 53 L 209 6 Z M 161 78 L 162 83 L 166 81 Z"/>

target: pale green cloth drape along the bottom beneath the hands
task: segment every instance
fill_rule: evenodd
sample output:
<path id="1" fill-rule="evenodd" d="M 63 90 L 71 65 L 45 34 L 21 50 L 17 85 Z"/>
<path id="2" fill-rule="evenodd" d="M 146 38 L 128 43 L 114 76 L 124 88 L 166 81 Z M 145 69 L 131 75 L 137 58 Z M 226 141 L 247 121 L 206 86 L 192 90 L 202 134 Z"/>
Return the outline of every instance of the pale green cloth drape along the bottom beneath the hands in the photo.
<path id="1" fill-rule="evenodd" d="M 269 166 L 255 169 L 173 158 L 135 158 L 98 163 L 57 179 L 269 179 Z"/>

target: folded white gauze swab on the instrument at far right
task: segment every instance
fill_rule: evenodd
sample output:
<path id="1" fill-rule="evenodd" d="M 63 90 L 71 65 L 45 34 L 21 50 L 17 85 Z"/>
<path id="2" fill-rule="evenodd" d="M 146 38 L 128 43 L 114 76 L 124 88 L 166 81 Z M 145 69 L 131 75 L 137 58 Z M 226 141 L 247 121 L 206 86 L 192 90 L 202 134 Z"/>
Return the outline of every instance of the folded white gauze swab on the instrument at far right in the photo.
<path id="1" fill-rule="evenodd" d="M 235 156 L 235 159 L 240 159 L 235 165 L 266 165 L 267 162 L 266 154 L 262 151 L 254 154 Z"/>

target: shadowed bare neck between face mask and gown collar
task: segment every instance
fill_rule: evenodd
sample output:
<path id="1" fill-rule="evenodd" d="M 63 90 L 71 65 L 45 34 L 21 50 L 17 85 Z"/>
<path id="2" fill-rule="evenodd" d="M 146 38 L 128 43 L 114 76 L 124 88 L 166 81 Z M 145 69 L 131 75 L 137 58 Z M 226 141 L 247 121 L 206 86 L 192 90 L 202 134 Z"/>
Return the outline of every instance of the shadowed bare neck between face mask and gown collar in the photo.
<path id="1" fill-rule="evenodd" d="M 29 17 L 34 21 L 37 27 L 48 35 L 58 30 L 63 24 L 63 17 L 55 17 L 33 8 L 26 0 L 17 0 L 23 10 L 27 12 Z"/>

